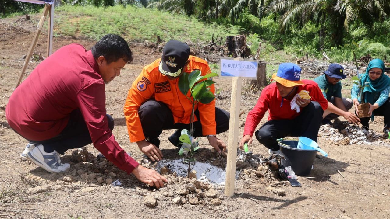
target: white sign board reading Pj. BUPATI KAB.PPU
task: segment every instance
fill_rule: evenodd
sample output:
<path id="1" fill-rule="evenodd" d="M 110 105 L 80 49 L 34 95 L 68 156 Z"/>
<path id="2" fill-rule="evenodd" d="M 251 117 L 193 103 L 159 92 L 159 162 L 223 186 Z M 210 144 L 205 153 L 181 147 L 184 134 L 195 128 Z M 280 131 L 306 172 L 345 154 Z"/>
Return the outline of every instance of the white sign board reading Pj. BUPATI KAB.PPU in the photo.
<path id="1" fill-rule="evenodd" d="M 220 69 L 220 76 L 256 79 L 257 62 L 253 60 L 233 60 L 233 58 L 221 57 Z"/>

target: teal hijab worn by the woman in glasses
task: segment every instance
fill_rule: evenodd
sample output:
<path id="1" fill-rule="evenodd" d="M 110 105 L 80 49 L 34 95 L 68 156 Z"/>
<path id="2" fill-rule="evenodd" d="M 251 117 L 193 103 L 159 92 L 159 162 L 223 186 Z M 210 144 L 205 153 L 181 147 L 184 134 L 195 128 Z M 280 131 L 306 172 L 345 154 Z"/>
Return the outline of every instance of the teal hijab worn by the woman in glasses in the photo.
<path id="1" fill-rule="evenodd" d="M 369 76 L 369 71 L 372 68 L 382 69 L 382 74 L 376 80 L 371 80 Z M 368 64 L 366 73 L 362 75 L 362 84 L 365 82 L 370 82 L 368 86 L 363 89 L 363 98 L 364 102 L 369 102 L 374 104 L 374 93 L 380 93 L 382 90 L 385 90 L 387 86 L 390 85 L 390 78 L 384 74 L 385 73 L 385 64 L 379 58 L 371 60 Z"/>

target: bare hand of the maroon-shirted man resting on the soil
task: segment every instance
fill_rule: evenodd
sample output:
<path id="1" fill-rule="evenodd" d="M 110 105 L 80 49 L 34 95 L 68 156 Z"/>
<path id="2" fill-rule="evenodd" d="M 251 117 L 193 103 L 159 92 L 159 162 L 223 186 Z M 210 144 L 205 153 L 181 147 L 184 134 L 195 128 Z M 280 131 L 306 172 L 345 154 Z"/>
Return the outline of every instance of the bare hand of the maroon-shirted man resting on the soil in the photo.
<path id="1" fill-rule="evenodd" d="M 167 178 L 161 176 L 154 170 L 145 168 L 141 165 L 138 165 L 133 172 L 131 172 L 143 183 L 149 184 L 149 186 L 155 186 L 157 189 L 164 187 L 164 182 L 167 183 Z"/>

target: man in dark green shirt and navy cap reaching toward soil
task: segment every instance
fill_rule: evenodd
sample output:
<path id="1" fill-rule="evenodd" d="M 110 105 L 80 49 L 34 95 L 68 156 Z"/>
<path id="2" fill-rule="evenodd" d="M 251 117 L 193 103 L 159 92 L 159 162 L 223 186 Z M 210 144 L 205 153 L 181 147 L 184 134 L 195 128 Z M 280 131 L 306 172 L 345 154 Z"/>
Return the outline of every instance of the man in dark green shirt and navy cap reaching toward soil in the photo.
<path id="1" fill-rule="evenodd" d="M 360 122 L 358 117 L 348 112 L 352 108 L 352 100 L 341 96 L 342 85 L 340 80 L 347 77 L 343 74 L 343 71 L 344 67 L 333 63 L 329 65 L 328 70 L 323 75 L 314 79 L 328 101 L 328 108 L 323 114 L 323 124 L 330 124 L 330 120 L 339 116 L 353 124 Z"/>

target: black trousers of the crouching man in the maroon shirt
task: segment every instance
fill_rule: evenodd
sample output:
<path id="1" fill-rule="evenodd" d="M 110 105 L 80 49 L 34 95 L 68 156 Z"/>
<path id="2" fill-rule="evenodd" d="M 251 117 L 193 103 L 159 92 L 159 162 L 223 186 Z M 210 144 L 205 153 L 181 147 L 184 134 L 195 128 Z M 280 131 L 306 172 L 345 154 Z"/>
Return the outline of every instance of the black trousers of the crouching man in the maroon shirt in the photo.
<path id="1" fill-rule="evenodd" d="M 108 119 L 108 127 L 112 131 L 114 129 L 114 120 L 108 114 L 106 114 L 106 117 Z M 68 124 L 58 136 L 44 141 L 28 141 L 34 145 L 42 144 L 43 149 L 47 153 L 56 150 L 60 154 L 64 154 L 69 149 L 81 148 L 92 143 L 91 136 L 80 109 L 71 112 Z"/>

